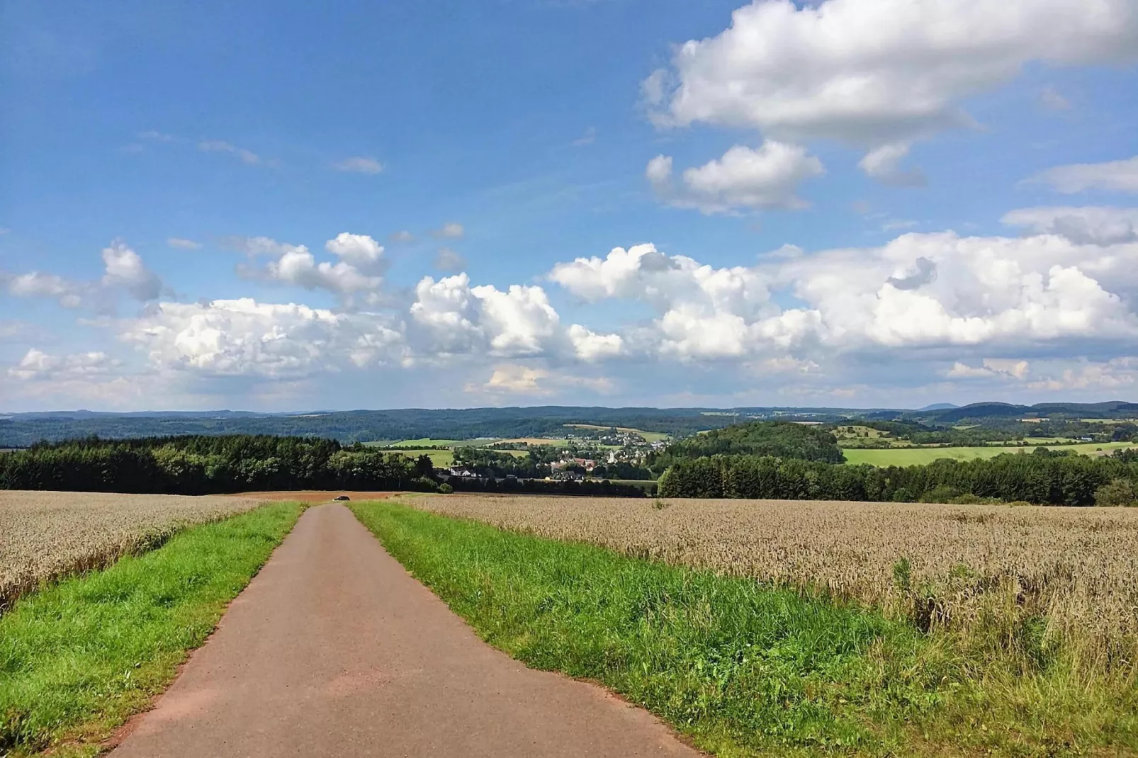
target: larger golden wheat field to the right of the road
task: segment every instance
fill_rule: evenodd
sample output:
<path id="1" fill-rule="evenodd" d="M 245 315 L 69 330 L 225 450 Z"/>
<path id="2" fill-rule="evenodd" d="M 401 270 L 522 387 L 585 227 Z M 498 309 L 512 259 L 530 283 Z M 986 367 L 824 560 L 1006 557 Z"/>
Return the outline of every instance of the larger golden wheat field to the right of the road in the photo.
<path id="1" fill-rule="evenodd" d="M 1009 628 L 1034 616 L 1091 656 L 1132 662 L 1138 651 L 1138 509 L 509 495 L 406 502 L 885 609 L 924 609 L 948 628 Z"/>

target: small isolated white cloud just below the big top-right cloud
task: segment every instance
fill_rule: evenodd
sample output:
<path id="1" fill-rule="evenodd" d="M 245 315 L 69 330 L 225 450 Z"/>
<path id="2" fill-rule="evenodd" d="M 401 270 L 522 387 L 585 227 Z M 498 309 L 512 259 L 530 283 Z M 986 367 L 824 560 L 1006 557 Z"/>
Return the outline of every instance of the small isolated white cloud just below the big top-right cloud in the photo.
<path id="1" fill-rule="evenodd" d="M 645 176 L 662 199 L 703 213 L 734 208 L 802 208 L 798 186 L 825 173 L 822 162 L 797 145 L 767 140 L 758 149 L 741 145 L 721 158 L 687 168 L 681 187 L 671 181 L 671 158 L 657 156 Z"/>

